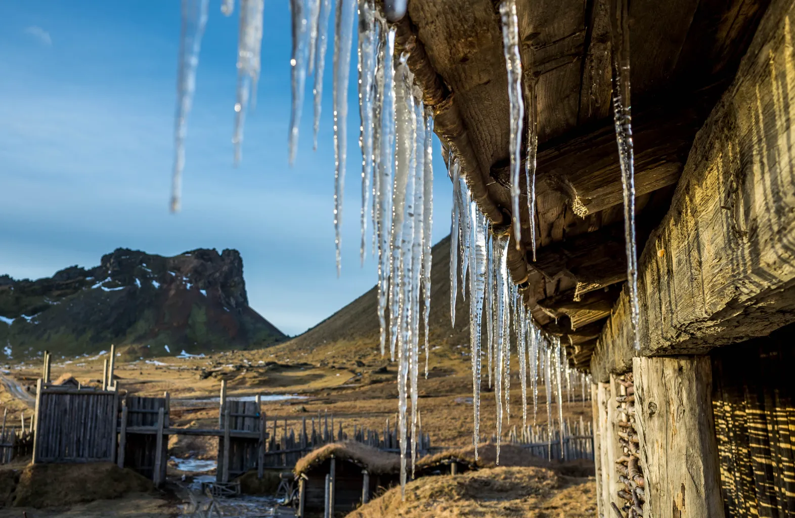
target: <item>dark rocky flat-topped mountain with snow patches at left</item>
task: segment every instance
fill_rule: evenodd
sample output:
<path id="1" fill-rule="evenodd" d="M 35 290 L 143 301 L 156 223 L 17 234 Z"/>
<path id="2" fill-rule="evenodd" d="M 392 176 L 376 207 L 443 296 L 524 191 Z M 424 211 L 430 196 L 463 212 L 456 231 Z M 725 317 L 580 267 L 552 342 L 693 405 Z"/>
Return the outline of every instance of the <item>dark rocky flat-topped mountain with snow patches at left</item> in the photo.
<path id="1" fill-rule="evenodd" d="M 161 356 L 285 338 L 248 305 L 236 250 L 163 257 L 118 248 L 91 269 L 68 267 L 35 281 L 0 276 L 0 358 L 44 349 L 76 355 L 111 343 Z"/>

